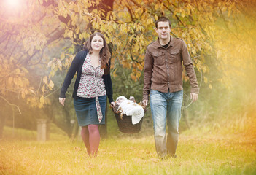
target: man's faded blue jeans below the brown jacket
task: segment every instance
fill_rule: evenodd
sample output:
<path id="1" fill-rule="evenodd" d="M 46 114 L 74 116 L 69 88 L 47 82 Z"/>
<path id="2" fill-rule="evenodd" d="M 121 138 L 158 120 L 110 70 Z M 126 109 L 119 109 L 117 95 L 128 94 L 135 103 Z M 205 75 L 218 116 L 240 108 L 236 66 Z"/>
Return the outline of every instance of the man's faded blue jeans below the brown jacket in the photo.
<path id="1" fill-rule="evenodd" d="M 161 93 L 150 90 L 150 108 L 154 122 L 155 149 L 158 157 L 174 156 L 179 137 L 183 90 Z M 168 126 L 166 142 L 166 122 Z"/>

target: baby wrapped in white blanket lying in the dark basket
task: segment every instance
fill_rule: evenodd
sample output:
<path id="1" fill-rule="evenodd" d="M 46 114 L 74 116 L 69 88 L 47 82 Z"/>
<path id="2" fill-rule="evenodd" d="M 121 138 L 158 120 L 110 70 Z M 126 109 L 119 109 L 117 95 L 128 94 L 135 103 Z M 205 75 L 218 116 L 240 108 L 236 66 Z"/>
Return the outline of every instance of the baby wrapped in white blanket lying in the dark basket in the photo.
<path id="1" fill-rule="evenodd" d="M 125 96 L 119 96 L 116 100 L 116 105 L 119 105 L 117 113 L 121 113 L 121 118 L 123 114 L 131 116 L 131 122 L 133 125 L 139 123 L 142 117 L 144 117 L 144 109 L 141 105 L 136 104 L 133 97 L 130 97 L 131 100 L 125 98 Z"/>

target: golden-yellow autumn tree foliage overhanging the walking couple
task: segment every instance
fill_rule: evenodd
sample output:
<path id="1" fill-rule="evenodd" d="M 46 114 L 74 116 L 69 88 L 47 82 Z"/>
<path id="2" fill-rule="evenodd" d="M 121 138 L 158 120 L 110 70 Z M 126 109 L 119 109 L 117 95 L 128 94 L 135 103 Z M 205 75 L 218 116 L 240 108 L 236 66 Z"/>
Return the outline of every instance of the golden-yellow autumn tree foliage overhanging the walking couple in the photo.
<path id="1" fill-rule="evenodd" d="M 10 104 L 15 103 L 12 96 L 32 107 L 50 103 L 48 97 L 58 90 L 52 80 L 56 72 L 69 68 L 94 31 L 102 31 L 111 43 L 112 75 L 121 65 L 131 70 L 134 82 L 141 81 L 144 52 L 157 38 L 155 20 L 162 15 L 171 19 L 172 35 L 185 40 L 209 88 L 209 63 L 216 64 L 220 81 L 229 88 L 235 75 L 255 68 L 255 1 L 39 0 L 16 10 L 6 3 L 0 4 L 0 96 Z M 36 79 L 31 79 L 32 70 Z"/>

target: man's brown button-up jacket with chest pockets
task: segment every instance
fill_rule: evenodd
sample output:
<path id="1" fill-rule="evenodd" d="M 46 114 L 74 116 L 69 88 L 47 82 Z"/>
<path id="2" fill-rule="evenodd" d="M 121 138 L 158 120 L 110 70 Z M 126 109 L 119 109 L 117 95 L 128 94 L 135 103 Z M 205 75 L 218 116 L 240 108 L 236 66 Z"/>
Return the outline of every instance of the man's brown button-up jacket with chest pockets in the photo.
<path id="1" fill-rule="evenodd" d="M 199 93 L 194 66 L 182 39 L 171 37 L 167 48 L 159 44 L 159 39 L 148 45 L 144 62 L 143 100 L 148 100 L 150 89 L 162 93 L 182 90 L 182 63 L 190 80 L 191 93 Z"/>

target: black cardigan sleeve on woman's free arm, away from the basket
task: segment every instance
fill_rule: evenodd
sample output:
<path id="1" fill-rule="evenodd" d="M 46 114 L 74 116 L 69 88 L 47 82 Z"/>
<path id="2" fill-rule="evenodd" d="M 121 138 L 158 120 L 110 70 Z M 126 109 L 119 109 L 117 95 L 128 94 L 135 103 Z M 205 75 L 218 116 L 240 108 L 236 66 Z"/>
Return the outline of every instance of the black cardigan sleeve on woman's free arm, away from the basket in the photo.
<path id="1" fill-rule="evenodd" d="M 63 85 L 61 87 L 61 94 L 60 94 L 61 98 L 66 98 L 66 90 L 68 90 L 69 85 L 74 77 L 74 74 L 76 74 L 77 70 L 79 69 L 80 60 L 81 60 L 79 58 L 80 58 L 81 54 L 82 54 L 82 52 L 78 52 L 71 63 L 69 71 L 66 74 Z"/>

